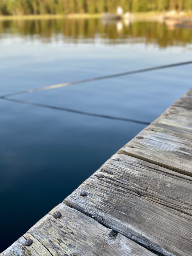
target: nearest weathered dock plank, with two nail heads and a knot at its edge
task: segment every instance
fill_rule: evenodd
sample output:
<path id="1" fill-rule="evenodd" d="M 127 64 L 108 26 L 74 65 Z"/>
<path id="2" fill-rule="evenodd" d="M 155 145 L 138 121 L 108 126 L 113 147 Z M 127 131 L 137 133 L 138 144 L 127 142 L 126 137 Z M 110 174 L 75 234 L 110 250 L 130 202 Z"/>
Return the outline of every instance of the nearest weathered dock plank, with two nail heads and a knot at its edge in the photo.
<path id="1" fill-rule="evenodd" d="M 60 212 L 61 217 L 54 218 L 55 212 Z M 33 240 L 31 246 L 23 245 L 25 238 Z M 1 255 L 154 256 L 155 254 L 125 236 L 113 233 L 82 212 L 61 203 Z"/>

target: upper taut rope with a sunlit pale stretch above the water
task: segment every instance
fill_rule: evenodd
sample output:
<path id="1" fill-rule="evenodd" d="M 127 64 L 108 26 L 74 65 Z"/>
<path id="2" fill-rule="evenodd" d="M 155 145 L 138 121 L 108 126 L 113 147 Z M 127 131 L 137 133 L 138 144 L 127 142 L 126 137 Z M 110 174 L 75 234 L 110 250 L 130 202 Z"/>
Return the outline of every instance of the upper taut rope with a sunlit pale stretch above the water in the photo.
<path id="1" fill-rule="evenodd" d="M 35 88 L 35 89 L 32 89 L 32 90 L 25 90 L 25 91 L 10 93 L 10 94 L 7 94 L 7 95 L 0 96 L 0 98 L 20 95 L 20 94 L 24 94 L 24 93 L 38 92 L 38 91 L 43 91 L 43 90 L 51 90 L 51 89 L 56 89 L 56 88 L 69 86 L 69 85 L 73 85 L 73 84 L 82 84 L 82 83 L 86 83 L 86 82 L 93 82 L 93 81 L 102 80 L 102 79 L 109 79 L 109 78 L 113 78 L 113 77 L 121 77 L 121 76 L 126 76 L 126 75 L 131 75 L 131 74 L 149 72 L 149 71 L 154 71 L 154 70 L 157 70 L 157 69 L 166 69 L 166 68 L 177 67 L 177 66 L 188 65 L 188 64 L 192 64 L 192 61 L 180 62 L 180 63 L 175 63 L 175 64 L 168 64 L 168 65 L 163 65 L 163 66 L 158 66 L 158 67 L 151 67 L 151 68 L 146 68 L 146 69 L 138 69 L 138 70 L 123 72 L 123 73 L 118 73 L 118 74 L 111 74 L 111 75 L 102 76 L 102 77 L 94 77 L 94 78 L 84 79 L 84 80 L 79 80 L 79 81 L 74 81 L 74 82 L 67 82 L 67 83 L 63 83 L 63 84 L 55 84 L 55 85 L 50 85 L 50 86 L 46 86 L 46 87 Z"/>

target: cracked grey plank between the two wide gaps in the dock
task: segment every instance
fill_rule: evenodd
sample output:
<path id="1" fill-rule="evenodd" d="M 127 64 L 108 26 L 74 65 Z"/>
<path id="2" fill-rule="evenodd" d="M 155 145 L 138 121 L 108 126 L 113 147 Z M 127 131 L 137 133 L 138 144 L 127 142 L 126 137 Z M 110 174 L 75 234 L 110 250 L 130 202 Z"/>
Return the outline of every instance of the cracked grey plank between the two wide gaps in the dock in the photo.
<path id="1" fill-rule="evenodd" d="M 191 177 L 116 154 L 64 203 L 159 253 L 187 256 L 192 251 L 191 183 Z"/>

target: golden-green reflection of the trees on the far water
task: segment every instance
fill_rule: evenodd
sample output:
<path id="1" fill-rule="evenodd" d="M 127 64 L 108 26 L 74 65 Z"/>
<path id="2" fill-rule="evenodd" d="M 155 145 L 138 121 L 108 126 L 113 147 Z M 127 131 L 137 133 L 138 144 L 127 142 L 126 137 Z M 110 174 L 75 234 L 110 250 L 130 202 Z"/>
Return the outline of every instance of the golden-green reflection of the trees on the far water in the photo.
<path id="1" fill-rule="evenodd" d="M 170 25 L 170 24 L 168 24 Z M 192 42 L 192 29 L 175 28 L 159 22 L 131 22 L 130 20 L 106 23 L 100 19 L 56 19 L 56 20 L 12 20 L 0 21 L 0 38 L 10 33 L 19 36 L 39 38 L 44 43 L 59 39 L 78 43 L 95 42 L 100 38 L 103 44 L 145 43 L 159 47 L 185 46 Z"/>

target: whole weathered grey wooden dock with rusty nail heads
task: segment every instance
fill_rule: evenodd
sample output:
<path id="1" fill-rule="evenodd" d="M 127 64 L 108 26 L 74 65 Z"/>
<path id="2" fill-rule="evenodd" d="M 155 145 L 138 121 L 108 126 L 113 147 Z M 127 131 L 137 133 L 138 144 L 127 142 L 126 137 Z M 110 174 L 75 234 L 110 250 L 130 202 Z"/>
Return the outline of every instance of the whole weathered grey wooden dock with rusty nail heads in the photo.
<path id="1" fill-rule="evenodd" d="M 156 254 L 192 255 L 192 89 L 1 255 Z"/>

